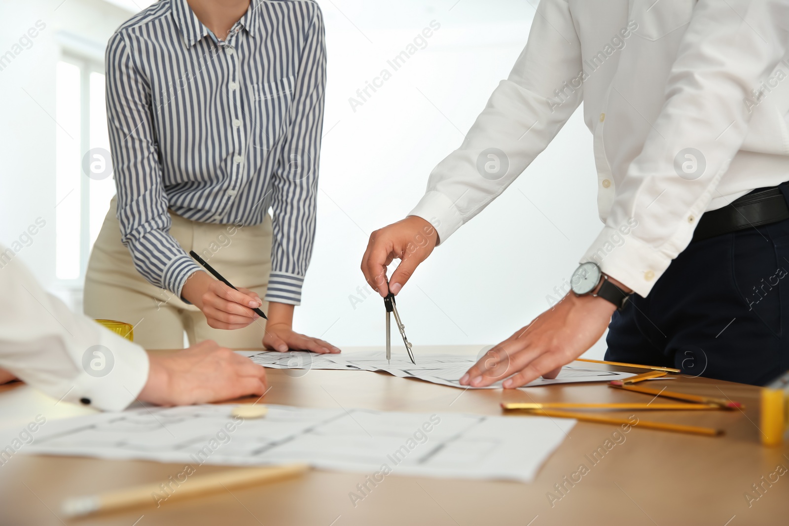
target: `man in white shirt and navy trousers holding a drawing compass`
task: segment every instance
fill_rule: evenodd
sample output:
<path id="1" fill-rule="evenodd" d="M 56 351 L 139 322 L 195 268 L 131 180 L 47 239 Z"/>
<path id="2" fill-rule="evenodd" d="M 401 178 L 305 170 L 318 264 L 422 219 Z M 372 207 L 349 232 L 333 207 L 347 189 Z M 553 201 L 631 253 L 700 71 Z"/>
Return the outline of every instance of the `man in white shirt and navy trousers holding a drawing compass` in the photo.
<path id="1" fill-rule="evenodd" d="M 609 360 L 768 382 L 789 368 L 787 26 L 786 0 L 543 0 L 417 207 L 372 233 L 368 282 L 397 294 L 583 101 L 604 228 L 567 296 L 461 382 L 554 375 L 609 323 Z"/>

